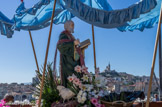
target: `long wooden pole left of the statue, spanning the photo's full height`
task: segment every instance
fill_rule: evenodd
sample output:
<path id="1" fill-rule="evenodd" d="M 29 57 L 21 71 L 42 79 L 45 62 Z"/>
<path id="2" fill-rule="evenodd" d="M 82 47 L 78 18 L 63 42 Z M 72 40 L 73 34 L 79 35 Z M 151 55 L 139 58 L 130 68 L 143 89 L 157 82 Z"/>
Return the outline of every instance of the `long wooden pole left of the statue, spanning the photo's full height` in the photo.
<path id="1" fill-rule="evenodd" d="M 54 1 L 54 5 L 53 5 L 53 12 L 52 12 L 52 17 L 51 17 L 50 31 L 49 31 L 49 36 L 48 36 L 46 56 L 45 56 L 44 67 L 43 67 L 43 75 L 42 75 L 42 81 L 41 81 L 41 89 L 40 89 L 38 107 L 41 106 L 42 91 L 43 91 L 43 86 L 44 86 L 44 76 L 45 76 L 45 70 L 46 70 L 46 64 L 47 64 L 47 58 L 48 58 L 48 50 L 49 50 L 49 45 L 50 45 L 50 40 L 51 40 L 51 33 L 52 33 L 52 27 L 53 27 L 53 18 L 54 18 L 54 14 L 55 14 L 56 1 L 57 0 Z"/>

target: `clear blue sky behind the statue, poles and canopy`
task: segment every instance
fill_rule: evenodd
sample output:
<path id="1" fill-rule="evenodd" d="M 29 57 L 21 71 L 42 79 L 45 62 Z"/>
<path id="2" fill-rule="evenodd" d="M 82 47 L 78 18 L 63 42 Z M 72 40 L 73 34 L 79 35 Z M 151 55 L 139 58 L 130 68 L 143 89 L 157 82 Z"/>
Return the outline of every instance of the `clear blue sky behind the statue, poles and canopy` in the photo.
<path id="1" fill-rule="evenodd" d="M 39 0 L 24 1 L 26 7 L 31 7 Z M 109 3 L 113 9 L 121 9 L 137 1 L 139 0 L 109 0 Z M 0 11 L 12 18 L 19 4 L 20 0 L 3 0 L 0 3 Z M 74 36 L 80 38 L 81 41 L 89 38 L 92 42 L 91 25 L 78 18 L 74 18 L 73 21 L 75 22 Z M 62 30 L 63 25 L 53 26 L 48 62 L 54 59 L 56 42 Z M 95 27 L 97 66 L 103 71 L 110 62 L 111 68 L 118 72 L 140 76 L 150 75 L 156 30 L 157 25 L 143 32 L 120 32 L 117 29 Z M 44 63 L 48 33 L 49 27 L 32 31 L 40 66 Z M 85 62 L 89 71 L 94 71 L 92 45 L 85 54 Z M 35 76 L 35 70 L 36 64 L 28 32 L 16 31 L 11 39 L 0 35 L 0 83 L 31 82 L 32 77 Z M 158 60 L 155 73 L 158 76 Z"/>

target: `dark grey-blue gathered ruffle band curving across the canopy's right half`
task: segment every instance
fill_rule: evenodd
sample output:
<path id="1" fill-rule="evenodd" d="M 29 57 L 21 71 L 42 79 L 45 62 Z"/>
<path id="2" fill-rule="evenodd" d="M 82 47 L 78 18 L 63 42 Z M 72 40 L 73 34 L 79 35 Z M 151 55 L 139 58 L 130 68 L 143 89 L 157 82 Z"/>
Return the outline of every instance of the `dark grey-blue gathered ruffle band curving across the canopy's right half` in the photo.
<path id="1" fill-rule="evenodd" d="M 139 18 L 141 14 L 151 11 L 156 5 L 156 0 L 141 0 L 140 2 L 120 10 L 100 10 L 90 7 L 81 0 L 64 0 L 65 8 L 74 16 L 94 26 L 103 28 L 116 28 L 127 25 L 126 22 Z M 103 2 L 102 0 L 98 0 Z"/>

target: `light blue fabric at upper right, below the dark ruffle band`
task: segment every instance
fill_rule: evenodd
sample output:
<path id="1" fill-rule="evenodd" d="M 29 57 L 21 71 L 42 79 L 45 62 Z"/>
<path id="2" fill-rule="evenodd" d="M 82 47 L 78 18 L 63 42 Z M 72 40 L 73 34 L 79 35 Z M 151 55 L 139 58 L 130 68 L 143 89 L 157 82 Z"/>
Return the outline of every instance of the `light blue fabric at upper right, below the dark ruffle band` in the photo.
<path id="1" fill-rule="evenodd" d="M 139 18 L 133 19 L 127 22 L 126 26 L 121 26 L 118 29 L 120 31 L 133 31 L 140 30 L 143 31 L 145 28 L 152 28 L 159 21 L 159 14 L 161 8 L 162 0 L 157 0 L 157 5 L 150 12 L 142 14 Z"/>

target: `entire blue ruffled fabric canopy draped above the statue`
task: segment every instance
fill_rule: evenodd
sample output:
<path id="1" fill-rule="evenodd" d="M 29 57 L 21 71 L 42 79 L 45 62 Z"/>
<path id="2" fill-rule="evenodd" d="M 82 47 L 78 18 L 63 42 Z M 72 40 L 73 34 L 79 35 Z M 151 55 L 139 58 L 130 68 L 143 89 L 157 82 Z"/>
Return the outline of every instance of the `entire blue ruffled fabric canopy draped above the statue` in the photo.
<path id="1" fill-rule="evenodd" d="M 2 35 L 12 37 L 14 30 L 39 30 L 50 25 L 54 0 L 40 0 L 26 9 L 18 6 L 13 19 L 0 12 Z M 157 23 L 161 0 L 140 0 L 125 9 L 113 10 L 107 0 L 57 0 L 54 24 L 65 23 L 73 17 L 103 28 L 120 31 L 143 30 Z"/>

